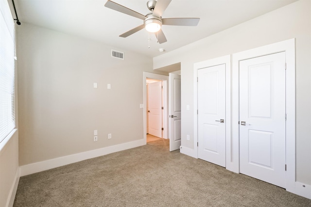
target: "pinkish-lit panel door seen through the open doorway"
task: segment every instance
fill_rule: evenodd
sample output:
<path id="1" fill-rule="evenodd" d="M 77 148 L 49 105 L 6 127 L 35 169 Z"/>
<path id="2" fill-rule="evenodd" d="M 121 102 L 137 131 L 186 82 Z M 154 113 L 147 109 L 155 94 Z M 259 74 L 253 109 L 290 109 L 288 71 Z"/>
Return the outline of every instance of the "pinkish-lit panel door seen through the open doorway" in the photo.
<path id="1" fill-rule="evenodd" d="M 162 138 L 162 81 L 148 84 L 148 133 Z"/>

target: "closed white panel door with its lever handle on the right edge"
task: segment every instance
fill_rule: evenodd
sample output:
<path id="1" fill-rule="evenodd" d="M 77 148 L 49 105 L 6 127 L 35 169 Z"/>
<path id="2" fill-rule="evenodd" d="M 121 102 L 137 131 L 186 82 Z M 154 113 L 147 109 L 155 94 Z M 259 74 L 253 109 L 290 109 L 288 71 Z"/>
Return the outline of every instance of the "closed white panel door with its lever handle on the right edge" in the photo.
<path id="1" fill-rule="evenodd" d="M 198 158 L 225 167 L 225 64 L 198 70 Z"/>

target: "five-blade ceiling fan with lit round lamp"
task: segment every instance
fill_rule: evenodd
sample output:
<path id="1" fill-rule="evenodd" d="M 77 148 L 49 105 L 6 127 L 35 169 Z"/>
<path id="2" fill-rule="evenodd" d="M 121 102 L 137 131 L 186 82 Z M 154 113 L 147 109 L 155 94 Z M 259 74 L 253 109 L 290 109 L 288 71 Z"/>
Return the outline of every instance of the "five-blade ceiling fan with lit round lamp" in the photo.
<path id="1" fill-rule="evenodd" d="M 171 3 L 171 1 L 172 0 L 149 0 L 147 2 L 147 7 L 151 12 L 146 16 L 111 0 L 108 0 L 105 3 L 105 7 L 144 20 L 142 25 L 139 25 L 138 27 L 121 34 L 120 37 L 128 37 L 131 34 L 134 34 L 135 32 L 145 28 L 148 32 L 157 32 L 156 38 L 161 44 L 167 42 L 166 37 L 161 29 L 162 25 L 197 26 L 200 20 L 200 18 L 162 18 L 163 12 Z"/>

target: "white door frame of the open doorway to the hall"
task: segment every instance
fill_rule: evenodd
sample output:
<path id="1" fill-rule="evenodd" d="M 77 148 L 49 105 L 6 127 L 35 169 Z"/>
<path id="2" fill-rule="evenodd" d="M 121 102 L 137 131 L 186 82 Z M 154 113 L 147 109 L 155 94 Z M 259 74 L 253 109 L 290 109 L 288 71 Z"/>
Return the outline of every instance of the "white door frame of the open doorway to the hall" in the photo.
<path id="1" fill-rule="evenodd" d="M 164 97 L 164 109 L 163 109 L 163 138 L 168 139 L 168 82 L 169 77 L 164 75 L 159 75 L 155 73 L 148 73 L 143 72 L 143 140 L 147 143 L 147 86 L 146 86 L 146 79 L 155 79 L 155 80 L 163 80 L 163 97 Z"/>

